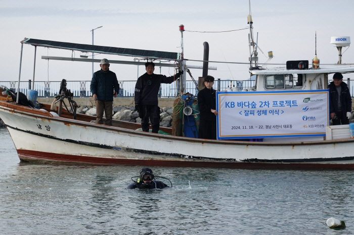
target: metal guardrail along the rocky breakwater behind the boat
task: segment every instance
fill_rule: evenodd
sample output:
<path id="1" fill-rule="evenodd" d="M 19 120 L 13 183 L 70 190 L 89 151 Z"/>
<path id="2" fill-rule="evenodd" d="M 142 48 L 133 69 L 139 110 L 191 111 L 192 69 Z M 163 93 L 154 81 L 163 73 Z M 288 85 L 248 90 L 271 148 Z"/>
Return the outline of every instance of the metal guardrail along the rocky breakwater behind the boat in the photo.
<path id="1" fill-rule="evenodd" d="M 329 80 L 331 82 L 332 80 Z M 66 81 L 66 87 L 73 92 L 74 97 L 91 97 L 92 93 L 90 91 L 91 81 Z M 134 90 L 136 81 L 118 81 L 120 90 L 119 97 L 134 97 Z M 349 86 L 350 95 L 354 96 L 354 81 L 350 79 L 343 79 L 343 82 L 347 83 Z M 34 90 L 38 91 L 38 97 L 54 97 L 59 93 L 61 81 L 35 81 Z M 8 88 L 16 91 L 18 81 L 0 81 L 0 85 L 5 85 Z M 29 81 L 20 82 L 20 91 L 27 96 L 27 90 L 29 89 Z M 33 85 L 33 84 L 32 84 Z M 178 87 L 176 82 L 171 84 L 161 84 L 159 97 L 161 98 L 174 98 Z M 217 79 L 214 82 L 214 88 L 223 91 L 226 88 L 236 87 L 237 90 L 241 91 L 246 88 L 249 89 L 255 85 L 254 80 L 221 80 Z M 33 88 L 32 88 L 33 89 Z M 186 90 L 192 94 L 197 94 L 198 90 L 192 80 L 186 81 Z"/>

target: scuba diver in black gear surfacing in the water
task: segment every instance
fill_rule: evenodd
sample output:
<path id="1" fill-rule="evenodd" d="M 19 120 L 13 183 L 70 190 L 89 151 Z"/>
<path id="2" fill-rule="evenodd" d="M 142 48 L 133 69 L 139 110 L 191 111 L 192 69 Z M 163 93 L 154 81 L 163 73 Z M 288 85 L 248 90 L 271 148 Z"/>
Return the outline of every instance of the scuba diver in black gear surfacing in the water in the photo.
<path id="1" fill-rule="evenodd" d="M 140 176 L 131 177 L 131 179 L 132 179 L 132 181 L 134 181 L 134 183 L 130 183 L 126 187 L 126 189 L 127 190 L 130 190 L 130 189 L 155 190 L 155 189 L 164 189 L 165 187 L 169 187 L 168 185 L 164 184 L 162 181 L 155 180 L 155 177 L 167 179 L 167 178 L 161 177 L 161 176 L 154 176 L 152 173 L 152 170 L 150 168 L 145 167 L 140 170 Z M 135 181 L 133 178 L 138 178 L 138 180 Z M 171 182 L 169 179 L 167 179 L 167 180 L 169 182 Z M 171 187 L 172 187 L 172 183 L 171 183 Z"/>

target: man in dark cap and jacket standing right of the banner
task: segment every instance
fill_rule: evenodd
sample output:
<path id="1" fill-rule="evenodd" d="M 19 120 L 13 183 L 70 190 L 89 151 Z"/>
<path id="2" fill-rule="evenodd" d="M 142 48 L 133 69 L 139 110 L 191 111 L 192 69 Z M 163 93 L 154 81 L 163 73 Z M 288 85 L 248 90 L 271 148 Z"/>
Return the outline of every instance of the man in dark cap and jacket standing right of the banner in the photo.
<path id="1" fill-rule="evenodd" d="M 343 75 L 335 73 L 329 88 L 329 113 L 333 125 L 347 125 L 351 117 L 351 97 Z"/>

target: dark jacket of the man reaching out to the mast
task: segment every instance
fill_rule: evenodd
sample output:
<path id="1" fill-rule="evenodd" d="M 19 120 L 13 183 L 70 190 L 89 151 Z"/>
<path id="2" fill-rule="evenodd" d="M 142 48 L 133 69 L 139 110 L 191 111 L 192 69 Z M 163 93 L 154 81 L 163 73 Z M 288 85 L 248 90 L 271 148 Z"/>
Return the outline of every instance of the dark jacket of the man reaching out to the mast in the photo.
<path id="1" fill-rule="evenodd" d="M 172 83 L 178 76 L 166 77 L 161 74 L 144 73 L 135 85 L 135 104 L 158 105 L 158 93 L 161 83 Z"/>

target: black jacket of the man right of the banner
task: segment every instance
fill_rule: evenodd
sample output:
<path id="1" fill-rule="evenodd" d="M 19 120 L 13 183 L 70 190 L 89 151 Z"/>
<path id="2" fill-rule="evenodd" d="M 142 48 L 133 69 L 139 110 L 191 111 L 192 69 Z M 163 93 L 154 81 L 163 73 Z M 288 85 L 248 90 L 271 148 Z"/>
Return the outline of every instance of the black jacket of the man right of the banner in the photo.
<path id="1" fill-rule="evenodd" d="M 341 91 L 338 97 L 338 92 L 333 81 L 328 85 L 329 88 L 329 113 L 338 114 L 338 99 L 340 99 L 340 104 L 342 105 L 343 117 L 346 117 L 346 112 L 351 111 L 351 97 L 347 84 L 344 82 L 340 83 Z"/>

